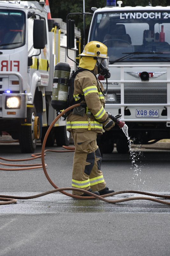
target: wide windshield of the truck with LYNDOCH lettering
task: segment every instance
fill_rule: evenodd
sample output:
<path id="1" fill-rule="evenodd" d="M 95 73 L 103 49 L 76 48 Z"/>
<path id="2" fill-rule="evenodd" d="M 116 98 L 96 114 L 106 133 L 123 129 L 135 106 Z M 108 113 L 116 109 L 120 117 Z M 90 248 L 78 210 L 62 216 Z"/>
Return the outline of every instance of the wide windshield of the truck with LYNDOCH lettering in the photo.
<path id="1" fill-rule="evenodd" d="M 97 12 L 91 28 L 89 41 L 108 47 L 110 64 L 170 61 L 170 12 Z"/>

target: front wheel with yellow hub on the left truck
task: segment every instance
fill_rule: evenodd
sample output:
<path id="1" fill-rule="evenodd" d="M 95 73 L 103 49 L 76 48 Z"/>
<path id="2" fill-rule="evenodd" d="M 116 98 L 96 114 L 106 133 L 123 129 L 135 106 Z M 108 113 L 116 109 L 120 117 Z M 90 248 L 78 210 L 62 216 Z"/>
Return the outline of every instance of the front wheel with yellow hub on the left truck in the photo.
<path id="1" fill-rule="evenodd" d="M 33 153 L 37 139 L 39 139 L 39 118 L 36 116 L 36 109 L 27 108 L 27 123 L 21 125 L 21 134 L 19 138 L 19 145 L 22 153 Z"/>

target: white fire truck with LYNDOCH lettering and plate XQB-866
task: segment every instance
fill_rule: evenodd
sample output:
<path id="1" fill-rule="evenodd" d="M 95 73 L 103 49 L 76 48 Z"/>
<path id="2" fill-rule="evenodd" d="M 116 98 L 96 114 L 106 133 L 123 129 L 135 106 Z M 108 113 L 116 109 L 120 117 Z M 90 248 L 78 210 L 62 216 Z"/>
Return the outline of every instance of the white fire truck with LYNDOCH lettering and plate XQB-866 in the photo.
<path id="1" fill-rule="evenodd" d="M 92 7 L 89 41 L 108 47 L 110 79 L 105 110 L 128 126 L 134 144 L 170 138 L 170 6 L 125 6 L 107 1 Z M 104 77 L 98 77 L 106 89 Z M 128 140 L 114 127 L 101 136 L 100 148 L 129 151 Z"/>

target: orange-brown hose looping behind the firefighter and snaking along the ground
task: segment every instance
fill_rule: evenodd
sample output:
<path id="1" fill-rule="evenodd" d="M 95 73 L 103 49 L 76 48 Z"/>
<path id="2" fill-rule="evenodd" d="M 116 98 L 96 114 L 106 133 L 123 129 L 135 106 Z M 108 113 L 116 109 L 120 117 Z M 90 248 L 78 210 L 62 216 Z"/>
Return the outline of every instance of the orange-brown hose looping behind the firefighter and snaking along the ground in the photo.
<path id="1" fill-rule="evenodd" d="M 51 125 L 49 126 L 47 132 L 46 132 L 46 135 L 44 137 L 44 141 L 43 141 L 43 144 L 42 144 L 42 150 L 41 150 L 41 155 L 40 153 L 38 154 L 34 154 L 32 155 L 34 158 L 28 158 L 26 160 L 31 160 L 31 159 L 35 159 L 35 158 L 39 158 L 41 157 L 41 161 L 42 161 L 42 165 L 38 165 L 36 168 L 41 168 L 43 167 L 43 171 L 46 175 L 46 178 L 47 180 L 50 182 L 50 184 L 55 188 L 51 191 L 47 191 L 47 192 L 44 192 L 44 193 L 41 193 L 41 194 L 38 194 L 38 195 L 35 195 L 35 196 L 5 196 L 5 195 L 0 195 L 0 201 L 5 201 L 5 202 L 2 202 L 0 204 L 12 204 L 12 203 L 16 203 L 17 200 L 16 199 L 32 199 L 32 198 L 37 198 L 37 197 L 40 197 L 40 196 L 45 196 L 47 194 L 50 194 L 50 193 L 54 193 L 54 192 L 58 192 L 60 191 L 62 194 L 66 195 L 66 196 L 70 196 L 70 197 L 73 197 L 73 198 L 76 198 L 76 199 L 100 199 L 104 202 L 107 202 L 107 203 L 112 203 L 112 204 L 116 204 L 116 203 L 121 203 L 121 202 L 125 202 L 125 201 L 131 201 L 131 200 L 149 200 L 149 201 L 153 201 L 153 202 L 157 202 L 157 203 L 161 203 L 161 204 L 167 204 L 167 205 L 170 205 L 170 202 L 167 202 L 167 201 L 163 201 L 163 200 L 160 200 L 160 199 L 156 199 L 156 198 L 150 198 L 150 197 L 144 197 L 144 196 L 135 196 L 135 197 L 129 197 L 129 198 L 122 198 L 122 199 L 116 199 L 116 200 L 111 200 L 111 199 L 106 199 L 105 197 L 108 197 L 108 196 L 113 196 L 113 195 L 118 195 L 118 194 L 123 194 L 123 193 L 135 193 L 135 194 L 142 194 L 142 195 L 147 195 L 147 196 L 156 196 L 156 197 L 162 197 L 162 198 L 170 198 L 169 195 L 158 195 L 158 194 L 153 194 L 153 193 L 147 193 L 147 192 L 142 192 L 142 191 L 136 191 L 136 190 L 122 190 L 122 191 L 118 191 L 118 192 L 113 192 L 113 193 L 110 193 L 110 194 L 107 194 L 107 195 L 103 195 L 103 196 L 97 196 L 89 191 L 86 191 L 84 189 L 81 189 L 81 188 L 58 188 L 54 183 L 53 181 L 50 179 L 47 171 L 46 171 L 46 164 L 45 164 L 45 160 L 44 160 L 44 156 L 45 156 L 45 152 L 46 151 L 52 151 L 52 152 L 73 152 L 74 150 L 74 147 L 65 147 L 66 149 L 68 150 L 64 150 L 64 151 L 61 151 L 61 150 L 45 150 L 45 145 L 46 145 L 46 140 L 47 140 L 47 137 L 53 127 L 53 125 L 56 123 L 56 121 L 62 116 L 64 115 L 67 111 L 69 111 L 70 109 L 72 108 L 75 108 L 75 107 L 78 107 L 80 106 L 80 104 L 75 104 L 67 109 L 65 109 L 62 113 L 60 113 L 54 120 L 53 122 L 51 123 Z M 71 149 L 70 149 L 71 148 Z M 72 149 L 73 148 L 73 149 Z M 36 156 L 36 155 L 39 155 L 39 156 Z M 5 158 L 0 158 L 0 159 L 3 159 L 5 160 Z M 9 159 L 6 160 L 6 161 L 10 161 Z M 21 159 L 19 160 L 13 160 L 13 161 L 23 161 Z M 18 166 L 18 165 L 15 165 L 15 166 Z M 23 165 L 22 165 L 23 166 Z M 27 165 L 28 166 L 28 165 Z M 34 166 L 34 165 L 33 165 Z M 31 169 L 35 169 L 35 167 L 29 167 Z M 24 170 L 28 170 L 29 168 L 26 168 Z M 5 168 L 0 168 L 0 170 L 4 170 Z M 20 170 L 23 170 L 23 168 L 20 168 Z M 9 169 L 8 169 L 9 170 Z M 8 171 L 7 170 L 7 171 Z M 14 171 L 16 171 L 15 169 L 13 169 Z M 6 170 L 5 170 L 6 171 Z M 11 170 L 10 170 L 11 171 Z M 65 192 L 65 190 L 73 190 L 73 191 L 80 191 L 80 192 L 83 192 L 83 193 L 87 193 L 89 194 L 90 196 L 76 196 L 76 195 L 72 195 L 70 193 L 67 193 Z"/>

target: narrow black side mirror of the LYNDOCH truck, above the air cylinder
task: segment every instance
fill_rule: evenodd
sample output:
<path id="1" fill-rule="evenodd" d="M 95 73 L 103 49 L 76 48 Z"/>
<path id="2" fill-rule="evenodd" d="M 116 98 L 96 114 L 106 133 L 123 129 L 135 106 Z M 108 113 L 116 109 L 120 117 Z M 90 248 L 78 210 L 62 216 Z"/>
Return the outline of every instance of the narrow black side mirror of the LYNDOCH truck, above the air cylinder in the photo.
<path id="1" fill-rule="evenodd" d="M 74 48 L 74 20 L 67 20 L 67 49 Z"/>

